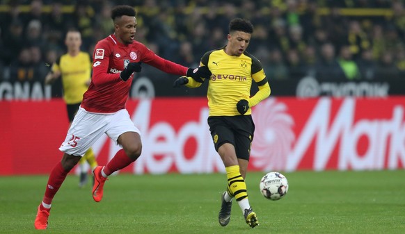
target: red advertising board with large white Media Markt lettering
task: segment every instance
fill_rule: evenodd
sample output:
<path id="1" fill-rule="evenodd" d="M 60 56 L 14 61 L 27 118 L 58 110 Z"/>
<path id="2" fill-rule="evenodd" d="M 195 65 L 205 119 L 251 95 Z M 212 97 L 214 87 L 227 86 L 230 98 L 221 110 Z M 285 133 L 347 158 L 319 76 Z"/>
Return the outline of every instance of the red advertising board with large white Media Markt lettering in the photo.
<path id="1" fill-rule="evenodd" d="M 405 97 L 271 97 L 253 108 L 249 169 L 403 169 L 404 109 Z M 224 172 L 205 98 L 129 100 L 127 110 L 141 130 L 143 152 L 121 173 Z M 1 101 L 0 111 L 0 175 L 49 174 L 68 128 L 63 101 Z M 118 149 L 106 135 L 93 146 L 100 165 Z"/>

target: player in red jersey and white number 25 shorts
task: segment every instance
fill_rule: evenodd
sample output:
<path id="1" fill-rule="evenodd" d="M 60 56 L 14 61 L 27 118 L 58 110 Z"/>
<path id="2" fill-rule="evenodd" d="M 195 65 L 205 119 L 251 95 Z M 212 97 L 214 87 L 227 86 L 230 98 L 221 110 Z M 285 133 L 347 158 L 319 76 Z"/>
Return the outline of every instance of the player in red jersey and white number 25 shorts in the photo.
<path id="1" fill-rule="evenodd" d="M 135 38 L 136 12 L 132 6 L 116 6 L 111 11 L 114 33 L 98 42 L 93 53 L 93 76 L 83 101 L 59 150 L 63 152 L 49 175 L 45 195 L 38 206 L 34 226 L 46 229 L 51 202 L 67 173 L 81 156 L 106 133 L 120 149 L 104 166 L 93 171 L 93 199 L 102 200 L 103 186 L 113 172 L 127 167 L 141 156 L 141 133 L 125 109 L 133 73 L 141 72 L 141 62 L 169 74 L 186 75 L 201 80 L 209 78 L 207 67 L 187 68 L 165 60 Z"/>

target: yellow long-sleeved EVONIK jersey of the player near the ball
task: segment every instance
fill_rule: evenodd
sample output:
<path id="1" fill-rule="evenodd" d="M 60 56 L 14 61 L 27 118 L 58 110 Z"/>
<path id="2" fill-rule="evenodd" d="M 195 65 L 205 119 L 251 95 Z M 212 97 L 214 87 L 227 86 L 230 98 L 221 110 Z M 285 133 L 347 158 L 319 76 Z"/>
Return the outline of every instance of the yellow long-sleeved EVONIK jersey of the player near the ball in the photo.
<path id="1" fill-rule="evenodd" d="M 239 100 L 248 100 L 252 107 L 270 94 L 261 62 L 246 51 L 241 56 L 229 56 L 224 48 L 208 51 L 200 62 L 201 66 L 208 66 L 212 72 L 207 90 L 209 116 L 240 115 L 236 108 Z M 187 87 L 201 85 L 191 77 L 188 79 Z M 257 92 L 259 95 L 251 98 L 252 81 L 257 83 L 260 90 Z M 251 115 L 251 108 L 245 115 Z"/>

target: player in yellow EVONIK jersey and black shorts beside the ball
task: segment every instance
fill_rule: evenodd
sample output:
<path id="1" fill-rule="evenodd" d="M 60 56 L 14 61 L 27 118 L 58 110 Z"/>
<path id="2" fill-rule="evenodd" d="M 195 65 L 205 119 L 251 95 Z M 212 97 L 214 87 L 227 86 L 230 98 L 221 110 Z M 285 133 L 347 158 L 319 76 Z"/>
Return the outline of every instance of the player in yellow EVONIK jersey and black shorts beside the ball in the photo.
<path id="1" fill-rule="evenodd" d="M 269 97 L 270 85 L 260 61 L 246 52 L 252 33 L 253 25 L 247 19 L 232 19 L 226 46 L 208 51 L 200 61 L 200 66 L 207 66 L 212 72 L 207 91 L 209 131 L 228 178 L 227 189 L 221 197 L 221 226 L 230 222 L 234 197 L 246 223 L 252 228 L 258 225 L 257 216 L 248 201 L 245 183 L 255 131 L 251 107 Z M 253 81 L 259 90 L 250 97 Z M 173 86 L 199 87 L 202 82 L 204 79 L 197 81 L 182 76 L 177 78 Z"/>

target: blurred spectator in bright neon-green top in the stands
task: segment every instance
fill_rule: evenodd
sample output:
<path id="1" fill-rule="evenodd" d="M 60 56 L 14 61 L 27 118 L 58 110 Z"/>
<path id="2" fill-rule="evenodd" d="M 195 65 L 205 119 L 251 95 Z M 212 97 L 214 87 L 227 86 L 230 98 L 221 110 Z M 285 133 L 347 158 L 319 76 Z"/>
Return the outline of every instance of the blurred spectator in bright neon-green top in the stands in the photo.
<path id="1" fill-rule="evenodd" d="M 354 80 L 360 78 L 360 71 L 358 70 L 356 62 L 354 62 L 350 46 L 344 45 L 340 47 L 340 56 L 337 58 L 337 62 L 344 72 L 344 77 L 347 80 Z"/>

